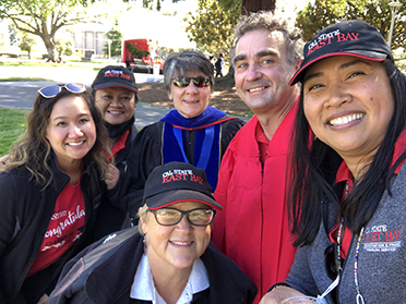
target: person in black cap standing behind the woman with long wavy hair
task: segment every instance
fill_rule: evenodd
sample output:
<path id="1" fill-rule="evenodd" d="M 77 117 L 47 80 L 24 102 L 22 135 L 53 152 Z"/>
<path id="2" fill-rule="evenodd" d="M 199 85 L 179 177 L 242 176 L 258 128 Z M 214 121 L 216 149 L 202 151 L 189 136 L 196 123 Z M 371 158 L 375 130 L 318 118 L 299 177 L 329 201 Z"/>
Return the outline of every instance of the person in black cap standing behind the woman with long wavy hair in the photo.
<path id="1" fill-rule="evenodd" d="M 134 74 L 121 65 L 103 68 L 92 84 L 92 96 L 105 121 L 110 138 L 109 148 L 114 155 L 114 161 L 109 165 L 106 175 L 109 199 L 112 203 L 120 199 L 119 191 L 123 183 L 127 157 L 138 134 L 134 125 L 138 94 Z M 105 217 L 100 217 L 100 220 L 115 222 L 117 230 L 131 226 L 127 209 L 122 210 L 110 204 L 106 204 L 105 207 L 109 209 L 103 212 Z"/>

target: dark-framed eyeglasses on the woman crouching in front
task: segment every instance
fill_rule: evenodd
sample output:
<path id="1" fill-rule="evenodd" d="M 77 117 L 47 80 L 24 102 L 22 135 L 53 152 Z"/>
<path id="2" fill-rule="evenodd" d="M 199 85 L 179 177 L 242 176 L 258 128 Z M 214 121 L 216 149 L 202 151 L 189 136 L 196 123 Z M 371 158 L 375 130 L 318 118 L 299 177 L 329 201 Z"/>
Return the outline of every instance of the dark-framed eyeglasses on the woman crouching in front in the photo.
<path id="1" fill-rule="evenodd" d="M 162 226 L 175 226 L 182 220 L 183 216 L 187 216 L 191 224 L 207 226 L 212 222 L 216 214 L 215 210 L 205 208 L 198 208 L 189 211 L 181 211 L 175 208 L 162 208 L 150 211 L 154 214 L 157 223 Z"/>

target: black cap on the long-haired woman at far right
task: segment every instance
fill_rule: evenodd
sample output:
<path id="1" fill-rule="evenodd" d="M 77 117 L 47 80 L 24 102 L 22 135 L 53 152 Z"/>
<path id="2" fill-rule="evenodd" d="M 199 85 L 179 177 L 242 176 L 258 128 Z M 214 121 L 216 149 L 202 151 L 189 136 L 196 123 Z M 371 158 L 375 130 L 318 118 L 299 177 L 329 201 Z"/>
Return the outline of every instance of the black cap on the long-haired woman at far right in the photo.
<path id="1" fill-rule="evenodd" d="M 341 54 L 372 61 L 383 61 L 386 58 L 394 61 L 391 48 L 377 28 L 361 20 L 342 21 L 320 31 L 310 42 L 306 44 L 304 59 L 289 85 L 301 82 L 310 64 Z"/>

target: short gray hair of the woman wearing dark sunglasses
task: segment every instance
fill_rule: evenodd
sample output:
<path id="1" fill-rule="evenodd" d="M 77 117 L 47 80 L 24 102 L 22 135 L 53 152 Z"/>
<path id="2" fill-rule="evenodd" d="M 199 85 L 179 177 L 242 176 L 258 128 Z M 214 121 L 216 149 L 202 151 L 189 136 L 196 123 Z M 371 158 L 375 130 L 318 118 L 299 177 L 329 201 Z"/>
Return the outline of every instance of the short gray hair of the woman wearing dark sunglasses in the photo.
<path id="1" fill-rule="evenodd" d="M 174 77 L 189 76 L 192 73 L 201 72 L 210 78 L 211 89 L 214 85 L 214 69 L 208 58 L 201 51 L 187 50 L 181 53 L 171 53 L 164 64 L 164 83 L 167 93 L 170 93 L 170 85 Z"/>

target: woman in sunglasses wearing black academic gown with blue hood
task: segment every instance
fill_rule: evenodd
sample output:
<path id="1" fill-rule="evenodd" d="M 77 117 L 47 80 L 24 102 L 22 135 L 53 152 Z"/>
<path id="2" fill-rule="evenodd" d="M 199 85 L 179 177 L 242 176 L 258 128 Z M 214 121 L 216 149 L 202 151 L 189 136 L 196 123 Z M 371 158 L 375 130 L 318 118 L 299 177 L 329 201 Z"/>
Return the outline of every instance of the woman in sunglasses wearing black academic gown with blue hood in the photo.
<path id="1" fill-rule="evenodd" d="M 159 165 L 182 161 L 202 168 L 214 191 L 222 157 L 243 125 L 240 119 L 208 106 L 213 65 L 202 52 L 169 56 L 164 82 L 175 109 L 139 133 L 128 157 L 126 197 L 120 204 L 132 218 L 141 207 L 146 178 Z"/>

